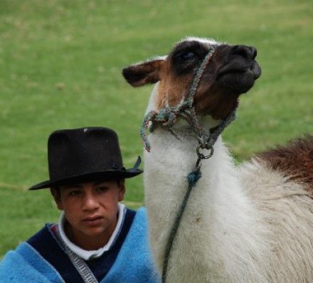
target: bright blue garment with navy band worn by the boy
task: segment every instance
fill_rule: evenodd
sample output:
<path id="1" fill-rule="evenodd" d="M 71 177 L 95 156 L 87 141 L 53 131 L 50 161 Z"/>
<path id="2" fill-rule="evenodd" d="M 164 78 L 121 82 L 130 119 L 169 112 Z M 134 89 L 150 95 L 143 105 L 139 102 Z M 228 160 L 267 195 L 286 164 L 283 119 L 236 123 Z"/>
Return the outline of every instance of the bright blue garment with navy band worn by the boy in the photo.
<path id="1" fill-rule="evenodd" d="M 84 282 L 46 225 L 0 263 L 0 282 Z M 101 283 L 159 283 L 147 239 L 144 208 L 127 210 L 120 236 L 100 258 L 86 261 Z"/>

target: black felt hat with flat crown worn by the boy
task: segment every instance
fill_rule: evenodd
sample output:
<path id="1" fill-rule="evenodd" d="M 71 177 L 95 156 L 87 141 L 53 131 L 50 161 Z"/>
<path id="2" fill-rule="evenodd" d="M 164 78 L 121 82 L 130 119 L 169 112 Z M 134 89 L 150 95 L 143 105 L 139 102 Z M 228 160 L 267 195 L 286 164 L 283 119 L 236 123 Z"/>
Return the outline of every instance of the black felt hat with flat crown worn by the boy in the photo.
<path id="1" fill-rule="evenodd" d="M 48 139 L 50 180 L 29 188 L 131 178 L 142 173 L 138 169 L 140 157 L 132 169 L 125 169 L 117 134 L 104 127 L 61 129 Z"/>

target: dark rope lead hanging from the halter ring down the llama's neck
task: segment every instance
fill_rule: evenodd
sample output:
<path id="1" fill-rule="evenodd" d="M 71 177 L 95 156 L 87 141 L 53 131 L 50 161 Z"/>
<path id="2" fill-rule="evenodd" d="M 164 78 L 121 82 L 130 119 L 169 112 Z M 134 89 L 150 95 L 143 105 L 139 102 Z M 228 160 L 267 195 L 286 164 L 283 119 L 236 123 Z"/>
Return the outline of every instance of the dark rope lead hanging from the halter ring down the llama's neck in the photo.
<path id="1" fill-rule="evenodd" d="M 186 208 L 186 204 L 188 202 L 191 190 L 194 186 L 196 186 L 196 183 L 198 182 L 199 178 L 201 178 L 200 168 L 196 169 L 195 171 L 190 172 L 187 176 L 188 188 L 187 188 L 187 191 L 185 193 L 184 200 L 181 203 L 181 208 L 179 209 L 179 213 L 177 213 L 173 227 L 171 228 L 169 240 L 167 241 L 167 245 L 166 245 L 166 249 L 165 249 L 164 261 L 163 261 L 163 270 L 162 270 L 162 282 L 163 283 L 166 282 L 166 272 L 167 272 L 167 267 L 169 265 L 169 255 L 171 253 L 171 247 L 172 247 L 173 242 L 175 240 L 177 230 L 179 230 L 179 224 L 181 223 L 181 218 L 182 218 L 184 210 Z"/>

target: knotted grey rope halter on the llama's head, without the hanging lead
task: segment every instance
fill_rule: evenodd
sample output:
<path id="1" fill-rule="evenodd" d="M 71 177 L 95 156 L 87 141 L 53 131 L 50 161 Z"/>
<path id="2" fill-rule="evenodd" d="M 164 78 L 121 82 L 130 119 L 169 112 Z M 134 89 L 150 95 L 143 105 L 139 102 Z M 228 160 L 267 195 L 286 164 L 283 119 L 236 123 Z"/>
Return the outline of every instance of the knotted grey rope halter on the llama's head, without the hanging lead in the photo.
<path id="1" fill-rule="evenodd" d="M 196 153 L 198 155 L 197 166 L 201 166 L 201 159 L 208 159 L 213 154 L 213 144 L 215 144 L 218 136 L 223 132 L 228 124 L 233 122 L 235 119 L 235 111 L 238 107 L 238 102 L 235 103 L 233 110 L 226 116 L 225 119 L 222 120 L 221 124 L 218 127 L 215 127 L 210 130 L 208 134 L 208 138 L 206 138 L 206 134 L 203 132 L 201 124 L 198 122 L 198 118 L 196 116 L 196 108 L 194 105 L 194 97 L 196 95 L 196 91 L 198 89 L 198 85 L 203 77 L 204 71 L 206 70 L 206 66 L 210 62 L 210 59 L 216 50 L 217 46 L 211 46 L 206 54 L 206 57 L 201 62 L 201 65 L 196 70 L 196 75 L 193 78 L 193 82 L 191 83 L 191 87 L 189 89 L 189 95 L 186 100 L 180 102 L 176 106 L 168 106 L 163 107 L 159 111 L 150 111 L 144 117 L 142 122 L 142 127 L 140 129 L 140 134 L 142 137 L 142 142 L 144 144 L 144 148 L 149 152 L 151 150 L 151 146 L 147 139 L 147 128 L 149 127 L 150 132 L 153 132 L 154 129 L 160 124 L 163 127 L 171 128 L 174 126 L 178 117 L 182 117 L 185 119 L 193 128 L 193 132 L 196 133 L 198 139 L 198 147 L 196 149 Z M 149 123 L 151 122 L 150 126 Z M 207 149 L 209 153 L 207 155 L 202 154 L 201 149 Z"/>

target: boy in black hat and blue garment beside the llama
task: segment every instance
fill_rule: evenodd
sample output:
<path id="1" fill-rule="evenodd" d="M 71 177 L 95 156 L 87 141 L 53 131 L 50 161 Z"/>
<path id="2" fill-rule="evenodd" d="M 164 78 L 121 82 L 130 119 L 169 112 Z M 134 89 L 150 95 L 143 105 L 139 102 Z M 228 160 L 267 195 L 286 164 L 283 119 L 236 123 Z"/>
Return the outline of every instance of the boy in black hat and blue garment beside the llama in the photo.
<path id="1" fill-rule="evenodd" d="M 147 242 L 144 208 L 119 202 L 124 178 L 142 173 L 122 165 L 117 134 L 104 127 L 63 129 L 48 139 L 56 224 L 10 251 L 0 264 L 0 282 L 159 282 Z"/>

